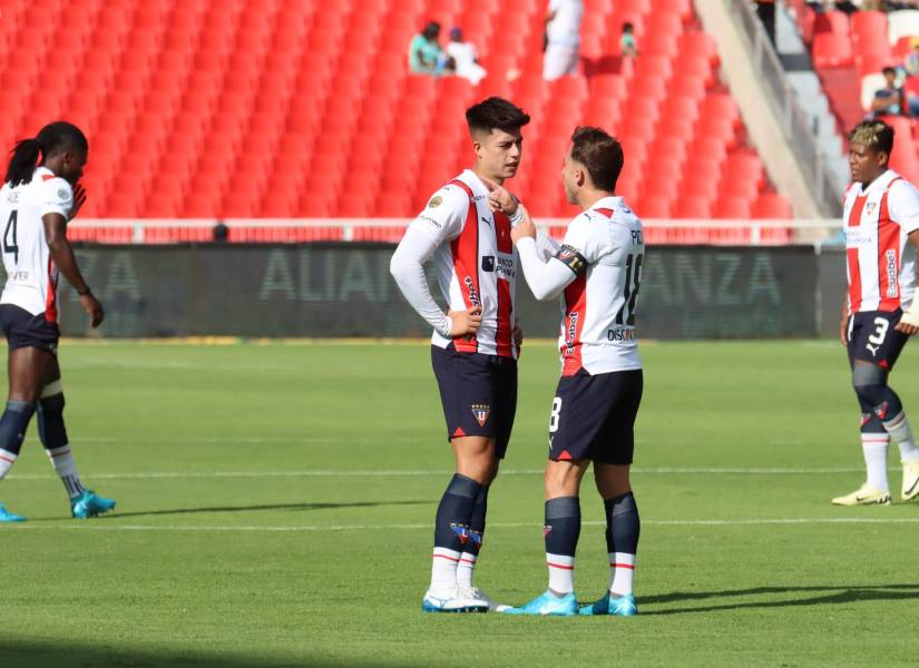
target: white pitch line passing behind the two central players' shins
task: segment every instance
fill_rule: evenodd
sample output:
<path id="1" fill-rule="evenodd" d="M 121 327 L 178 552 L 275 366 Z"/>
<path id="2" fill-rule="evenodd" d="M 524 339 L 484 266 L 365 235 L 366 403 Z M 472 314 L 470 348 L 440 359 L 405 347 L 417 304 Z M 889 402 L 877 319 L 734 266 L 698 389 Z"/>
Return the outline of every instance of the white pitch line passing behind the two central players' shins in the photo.
<path id="1" fill-rule="evenodd" d="M 115 520 L 117 515 L 113 515 L 110 520 Z M 778 518 L 778 519 L 747 519 L 747 520 L 643 520 L 643 524 L 652 524 L 656 527 L 753 527 L 765 524 L 919 524 L 919 518 Z M 603 527 L 605 522 L 590 521 L 583 522 L 587 527 Z M 538 524 L 526 522 L 490 522 L 491 528 L 501 529 L 535 529 Z M 397 530 L 430 530 L 428 524 L 331 524 L 327 527 L 320 525 L 294 525 L 294 527 L 253 527 L 253 525 L 202 525 L 195 527 L 190 524 L 111 524 L 100 523 L 98 521 L 91 523 L 80 524 L 43 524 L 43 523 L 25 523 L 25 524 L 8 524 L 10 530 L 14 531 L 201 531 L 201 532 L 234 532 L 234 531 L 255 531 L 255 532 L 316 532 L 316 531 L 397 531 Z"/>

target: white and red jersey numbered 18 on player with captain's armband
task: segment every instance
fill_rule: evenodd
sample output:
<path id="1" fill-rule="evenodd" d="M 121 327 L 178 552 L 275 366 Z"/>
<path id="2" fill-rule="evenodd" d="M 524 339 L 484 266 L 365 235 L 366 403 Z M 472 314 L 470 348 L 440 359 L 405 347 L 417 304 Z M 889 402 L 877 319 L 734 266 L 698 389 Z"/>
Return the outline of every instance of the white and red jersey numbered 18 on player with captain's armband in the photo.
<path id="1" fill-rule="evenodd" d="M 556 255 L 576 274 L 561 298 L 561 375 L 642 369 L 635 308 L 644 256 L 642 222 L 622 197 L 604 197 L 568 224 Z"/>

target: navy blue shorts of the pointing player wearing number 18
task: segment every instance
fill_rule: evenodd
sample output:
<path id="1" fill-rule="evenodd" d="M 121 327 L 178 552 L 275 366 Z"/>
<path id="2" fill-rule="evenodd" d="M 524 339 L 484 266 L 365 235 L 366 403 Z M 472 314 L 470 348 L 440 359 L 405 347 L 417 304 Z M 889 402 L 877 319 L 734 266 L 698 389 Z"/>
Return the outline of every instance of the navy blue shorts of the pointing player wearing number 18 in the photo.
<path id="1" fill-rule="evenodd" d="M 549 416 L 549 459 L 630 464 L 642 370 L 561 376 Z"/>

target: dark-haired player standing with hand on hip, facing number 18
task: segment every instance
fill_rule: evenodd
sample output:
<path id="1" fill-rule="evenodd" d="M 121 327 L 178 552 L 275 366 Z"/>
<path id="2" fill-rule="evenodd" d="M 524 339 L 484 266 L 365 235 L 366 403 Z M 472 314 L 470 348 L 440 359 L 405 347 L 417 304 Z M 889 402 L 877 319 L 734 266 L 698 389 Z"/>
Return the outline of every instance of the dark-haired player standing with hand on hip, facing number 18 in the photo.
<path id="1" fill-rule="evenodd" d="M 434 520 L 431 584 L 422 609 L 477 612 L 493 602 L 472 586 L 485 532 L 488 490 L 505 456 L 517 410 L 521 334 L 514 308 L 516 199 L 499 184 L 520 165 L 529 116 L 492 97 L 466 112 L 476 160 L 440 188 L 412 220 L 390 271 L 433 327 L 431 363 L 447 438 L 456 458 Z M 447 313 L 434 302 L 423 265 L 433 261 Z"/>

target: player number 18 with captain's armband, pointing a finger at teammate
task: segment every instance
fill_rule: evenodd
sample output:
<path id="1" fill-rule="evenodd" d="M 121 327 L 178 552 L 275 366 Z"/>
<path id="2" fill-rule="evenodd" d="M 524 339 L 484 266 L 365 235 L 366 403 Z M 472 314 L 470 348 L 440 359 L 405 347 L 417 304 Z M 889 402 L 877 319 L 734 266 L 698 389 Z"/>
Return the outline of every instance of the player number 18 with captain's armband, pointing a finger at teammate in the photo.
<path id="1" fill-rule="evenodd" d="M 642 223 L 615 195 L 623 149 L 604 130 L 577 128 L 561 178 L 568 202 L 584 210 L 569 224 L 561 247 L 542 259 L 526 210 L 511 238 L 537 299 L 561 297 L 561 379 L 549 418 L 546 465 L 546 562 L 549 587 L 514 615 L 620 615 L 637 612 L 632 593 L 638 550 L 638 508 L 629 484 L 633 428 L 642 402 L 642 360 L 635 308 L 645 254 Z M 594 463 L 606 514 L 608 590 L 578 609 L 575 550 L 580 536 L 580 481 Z"/>

